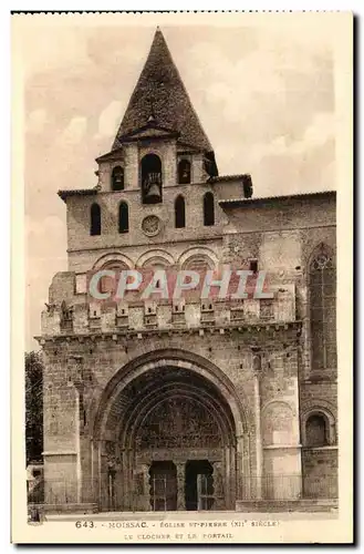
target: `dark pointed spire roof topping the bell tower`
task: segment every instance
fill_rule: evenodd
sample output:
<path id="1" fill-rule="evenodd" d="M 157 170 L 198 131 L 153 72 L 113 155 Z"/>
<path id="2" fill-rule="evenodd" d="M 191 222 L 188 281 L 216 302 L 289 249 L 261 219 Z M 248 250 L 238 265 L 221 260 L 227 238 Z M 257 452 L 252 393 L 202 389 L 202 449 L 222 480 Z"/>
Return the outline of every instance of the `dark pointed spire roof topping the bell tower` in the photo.
<path id="1" fill-rule="evenodd" d="M 113 150 L 124 135 L 150 121 L 179 133 L 178 141 L 210 153 L 212 147 L 193 107 L 165 38 L 157 28 L 152 48 L 115 137 Z"/>

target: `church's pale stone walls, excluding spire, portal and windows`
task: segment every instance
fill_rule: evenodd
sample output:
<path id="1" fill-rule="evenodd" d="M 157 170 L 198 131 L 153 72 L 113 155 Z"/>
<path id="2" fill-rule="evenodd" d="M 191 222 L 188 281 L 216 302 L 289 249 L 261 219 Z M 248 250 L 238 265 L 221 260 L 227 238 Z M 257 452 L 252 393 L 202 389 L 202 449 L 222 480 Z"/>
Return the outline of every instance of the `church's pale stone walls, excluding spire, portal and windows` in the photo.
<path id="1" fill-rule="evenodd" d="M 174 152 L 171 144 L 166 145 L 165 160 L 175 160 Z M 129 164 L 138 164 L 132 145 L 124 155 Z M 175 170 L 170 165 L 166 171 L 173 181 Z M 50 307 L 42 315 L 45 495 L 59 502 L 70 502 L 65 495 L 73 502 L 98 501 L 92 479 L 93 440 L 105 388 L 122 378 L 123 368 L 133 360 L 166 349 L 219 368 L 241 402 L 249 444 L 239 455 L 249 460 L 250 481 L 239 485 L 238 494 L 271 500 L 310 497 L 314 490 L 321 496 L 329 494 L 336 471 L 336 369 L 324 375 L 311 371 L 308 265 L 318 244 L 335 247 L 333 195 L 247 202 L 225 209 L 216 198 L 216 225 L 204 227 L 202 196 L 214 185 L 167 185 L 163 204 L 143 206 L 132 173 L 124 192 L 98 193 L 97 202 L 107 214 L 100 237 L 89 234 L 94 197 L 67 199 L 70 271 L 54 277 Z M 174 201 L 179 193 L 186 198 L 185 229 L 174 228 Z M 115 232 L 122 199 L 129 205 L 125 235 Z M 147 237 L 141 225 L 152 214 L 160 218 L 162 229 Z M 194 256 L 212 267 L 222 263 L 249 269 L 257 260 L 274 291 L 271 318 L 262 318 L 258 299 L 246 302 L 239 320 L 229 301 L 212 302 L 208 314 L 199 300 L 190 301 L 178 316 L 171 302 L 159 302 L 150 317 L 144 305 L 135 304 L 121 318 L 116 306 L 93 306 L 86 297 L 85 274 L 91 268 L 115 260 L 129 268 L 156 260 L 186 267 Z M 66 327 L 62 327 L 63 301 L 72 307 Z M 122 403 L 105 404 L 105 409 L 112 419 L 122 420 Z M 313 410 L 330 420 L 331 442 L 321 450 L 304 442 L 306 417 Z M 115 441 L 111 428 L 107 433 L 105 440 Z M 56 475 L 64 479 L 55 486 Z M 320 475 L 325 483 L 321 489 Z M 106 473 L 103 479 L 107 481 Z"/>

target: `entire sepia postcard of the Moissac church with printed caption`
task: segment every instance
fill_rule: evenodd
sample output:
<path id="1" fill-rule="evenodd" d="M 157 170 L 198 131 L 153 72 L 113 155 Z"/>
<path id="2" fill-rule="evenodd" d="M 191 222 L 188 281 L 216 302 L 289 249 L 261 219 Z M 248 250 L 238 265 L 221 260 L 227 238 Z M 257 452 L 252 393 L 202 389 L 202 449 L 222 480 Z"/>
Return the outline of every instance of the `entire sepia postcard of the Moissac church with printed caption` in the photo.
<path id="1" fill-rule="evenodd" d="M 12 14 L 12 541 L 353 541 L 353 16 Z"/>

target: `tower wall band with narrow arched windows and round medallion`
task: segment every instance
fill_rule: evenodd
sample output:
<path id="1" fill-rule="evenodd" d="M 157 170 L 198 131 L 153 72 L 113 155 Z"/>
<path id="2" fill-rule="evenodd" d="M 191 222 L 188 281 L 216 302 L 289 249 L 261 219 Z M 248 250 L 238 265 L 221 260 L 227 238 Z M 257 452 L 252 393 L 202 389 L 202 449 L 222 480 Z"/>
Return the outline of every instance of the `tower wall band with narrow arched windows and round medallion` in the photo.
<path id="1" fill-rule="evenodd" d="M 145 245 L 146 249 L 154 245 L 196 239 L 208 240 L 221 236 L 223 212 L 216 205 L 215 227 L 204 227 L 204 195 L 211 191 L 208 184 L 178 185 L 164 187 L 162 204 L 142 204 L 139 191 L 121 191 L 98 193 L 92 196 L 73 196 L 67 199 L 67 247 L 69 252 L 100 250 L 102 248 L 123 248 L 125 254 L 135 246 Z M 178 195 L 186 202 L 186 228 L 175 228 L 174 203 Z M 97 202 L 102 214 L 102 234 L 90 236 L 90 208 Z M 129 213 L 129 232 L 118 234 L 118 206 L 126 202 Z M 146 216 L 154 215 L 160 219 L 160 232 L 148 237 L 142 229 Z M 71 267 L 70 267 L 71 269 Z"/>

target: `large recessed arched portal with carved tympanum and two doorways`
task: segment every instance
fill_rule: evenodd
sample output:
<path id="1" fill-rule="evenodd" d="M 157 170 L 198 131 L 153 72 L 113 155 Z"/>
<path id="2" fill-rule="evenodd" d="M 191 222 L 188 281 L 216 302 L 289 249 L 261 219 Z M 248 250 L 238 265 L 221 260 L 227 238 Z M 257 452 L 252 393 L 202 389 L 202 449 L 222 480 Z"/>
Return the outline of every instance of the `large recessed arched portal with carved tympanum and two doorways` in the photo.
<path id="1" fill-rule="evenodd" d="M 103 484 L 106 442 L 115 459 L 114 510 L 235 509 L 235 418 L 205 377 L 156 363 L 111 399 L 101 439 L 102 509 L 111 505 Z"/>

